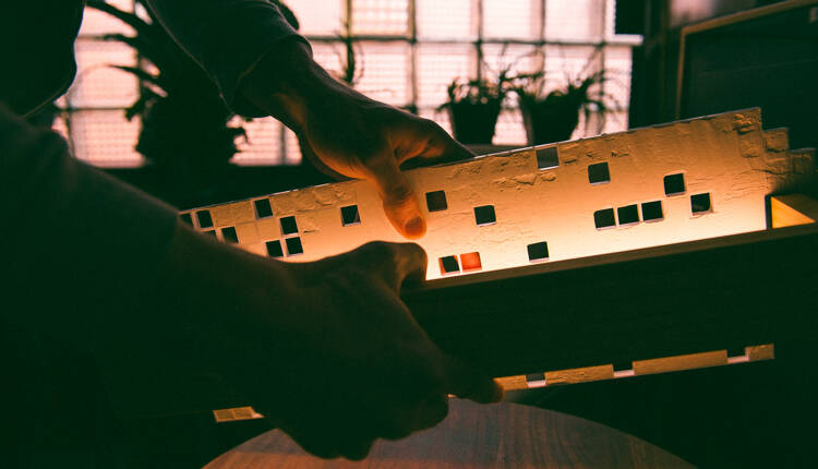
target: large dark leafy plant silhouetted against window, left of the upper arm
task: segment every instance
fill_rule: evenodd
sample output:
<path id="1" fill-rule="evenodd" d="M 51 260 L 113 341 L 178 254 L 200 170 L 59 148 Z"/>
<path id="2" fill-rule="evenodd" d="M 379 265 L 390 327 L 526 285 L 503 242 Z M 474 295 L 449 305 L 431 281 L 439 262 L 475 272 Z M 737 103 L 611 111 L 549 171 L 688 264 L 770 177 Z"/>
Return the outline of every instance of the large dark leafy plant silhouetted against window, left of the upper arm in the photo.
<path id="1" fill-rule="evenodd" d="M 298 27 L 292 12 L 278 1 L 285 17 Z M 244 130 L 231 125 L 234 117 L 221 99 L 217 86 L 159 24 L 145 0 L 136 0 L 146 13 L 122 11 L 104 0 L 87 5 L 104 11 L 131 26 L 136 33 L 108 34 L 103 38 L 131 46 L 141 65 L 113 65 L 140 80 L 140 97 L 125 117 L 141 118 L 136 151 L 170 180 L 179 192 L 201 191 L 224 177 L 238 152 L 236 139 Z"/>

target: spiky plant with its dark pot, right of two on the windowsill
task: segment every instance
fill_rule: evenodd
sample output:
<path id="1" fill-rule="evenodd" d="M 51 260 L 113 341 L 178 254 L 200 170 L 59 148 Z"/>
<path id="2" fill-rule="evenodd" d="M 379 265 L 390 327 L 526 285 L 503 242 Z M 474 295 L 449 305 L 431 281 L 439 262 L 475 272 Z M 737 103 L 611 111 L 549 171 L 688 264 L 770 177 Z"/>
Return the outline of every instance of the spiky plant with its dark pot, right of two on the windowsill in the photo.
<path id="1" fill-rule="evenodd" d="M 542 71 L 515 79 L 513 91 L 519 98 L 530 145 L 569 140 L 579 123 L 580 111 L 585 113 L 586 125 L 590 125 L 594 113 L 598 115 L 600 119 L 597 131 L 602 131 L 605 113 L 613 98 L 601 88 L 593 88 L 608 80 L 604 70 L 587 73 L 597 51 L 578 76 L 567 77 L 565 87 L 545 93 L 545 74 Z"/>

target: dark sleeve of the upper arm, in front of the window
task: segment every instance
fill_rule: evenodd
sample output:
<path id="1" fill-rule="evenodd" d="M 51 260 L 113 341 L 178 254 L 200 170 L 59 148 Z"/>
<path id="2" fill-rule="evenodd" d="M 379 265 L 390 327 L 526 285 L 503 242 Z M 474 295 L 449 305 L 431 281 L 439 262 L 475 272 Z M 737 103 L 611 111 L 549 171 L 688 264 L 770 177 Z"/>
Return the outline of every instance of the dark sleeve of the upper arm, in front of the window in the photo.
<path id="1" fill-rule="evenodd" d="M 237 94 L 241 79 L 286 38 L 305 39 L 267 0 L 148 0 L 159 21 L 243 116 L 266 116 Z"/>

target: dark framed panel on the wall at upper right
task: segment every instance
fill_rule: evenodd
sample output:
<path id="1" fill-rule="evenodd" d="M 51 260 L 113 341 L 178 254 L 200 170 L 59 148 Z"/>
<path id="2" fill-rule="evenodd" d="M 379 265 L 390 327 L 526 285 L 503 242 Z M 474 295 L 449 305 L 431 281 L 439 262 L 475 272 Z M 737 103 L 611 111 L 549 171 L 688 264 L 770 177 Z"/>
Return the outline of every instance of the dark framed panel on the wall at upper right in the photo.
<path id="1" fill-rule="evenodd" d="M 818 2 L 689 35 L 682 118 L 759 106 L 790 147 L 818 147 Z"/>

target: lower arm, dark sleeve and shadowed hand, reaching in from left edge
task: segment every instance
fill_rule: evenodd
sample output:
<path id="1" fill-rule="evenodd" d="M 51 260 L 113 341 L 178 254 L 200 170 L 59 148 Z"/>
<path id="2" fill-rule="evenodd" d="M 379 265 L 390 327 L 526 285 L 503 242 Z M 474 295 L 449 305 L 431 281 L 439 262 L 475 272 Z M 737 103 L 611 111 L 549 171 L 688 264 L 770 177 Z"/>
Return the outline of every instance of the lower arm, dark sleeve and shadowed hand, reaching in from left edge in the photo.
<path id="1" fill-rule="evenodd" d="M 377 437 L 437 423 L 449 393 L 501 396 L 437 349 L 399 300 L 402 280 L 426 265 L 417 245 L 373 243 L 308 264 L 245 253 L 2 107 L 0 164 L 12 273 L 0 315 L 86 350 L 117 408 L 196 389 L 180 370 L 216 375 L 308 450 L 359 458 Z"/>

